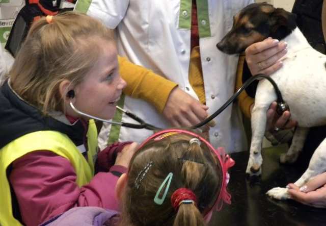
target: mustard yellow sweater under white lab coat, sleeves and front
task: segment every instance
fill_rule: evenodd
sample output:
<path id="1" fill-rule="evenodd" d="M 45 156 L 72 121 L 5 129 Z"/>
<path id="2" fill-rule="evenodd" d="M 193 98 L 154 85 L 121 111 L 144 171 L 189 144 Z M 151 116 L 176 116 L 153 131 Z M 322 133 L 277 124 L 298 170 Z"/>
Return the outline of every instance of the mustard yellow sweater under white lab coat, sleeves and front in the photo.
<path id="1" fill-rule="evenodd" d="M 133 98 L 144 99 L 155 106 L 157 111 L 161 113 L 171 91 L 178 85 L 164 77 L 158 76 L 151 70 L 132 64 L 126 58 L 118 57 L 118 60 L 121 77 L 127 82 L 123 92 Z M 244 55 L 239 57 L 235 90 L 242 85 L 243 62 Z M 204 104 L 205 90 L 198 46 L 194 47 L 191 53 L 189 83 L 194 88 L 200 102 Z M 155 95 L 157 90 L 160 90 L 159 95 Z M 250 106 L 253 104 L 254 99 L 244 91 L 239 95 L 238 102 L 244 115 L 250 117 Z"/>

